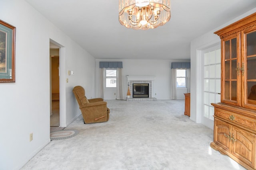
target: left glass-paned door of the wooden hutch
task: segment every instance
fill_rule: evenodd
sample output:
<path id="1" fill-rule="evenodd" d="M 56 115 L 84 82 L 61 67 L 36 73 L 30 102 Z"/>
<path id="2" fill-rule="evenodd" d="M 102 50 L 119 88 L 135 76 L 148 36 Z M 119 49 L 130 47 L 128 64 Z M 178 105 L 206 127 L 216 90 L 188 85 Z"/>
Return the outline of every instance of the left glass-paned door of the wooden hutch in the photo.
<path id="1" fill-rule="evenodd" d="M 240 106 L 240 55 L 238 53 L 238 38 L 224 39 L 222 43 L 224 45 L 222 51 L 222 57 L 224 59 L 222 102 Z"/>

